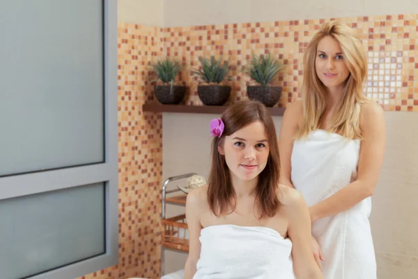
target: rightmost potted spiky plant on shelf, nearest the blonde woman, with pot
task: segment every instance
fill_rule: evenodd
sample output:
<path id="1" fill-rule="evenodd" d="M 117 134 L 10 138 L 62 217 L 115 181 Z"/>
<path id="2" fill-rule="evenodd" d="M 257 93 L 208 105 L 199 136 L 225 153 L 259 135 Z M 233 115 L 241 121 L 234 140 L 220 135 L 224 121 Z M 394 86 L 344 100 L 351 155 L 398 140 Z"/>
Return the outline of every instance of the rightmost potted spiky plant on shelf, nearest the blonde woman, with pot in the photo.
<path id="1" fill-rule="evenodd" d="M 272 85 L 272 80 L 284 65 L 276 59 L 272 59 L 270 53 L 265 56 L 252 54 L 250 66 L 245 73 L 257 84 L 247 86 L 247 96 L 250 100 L 258 100 L 266 107 L 276 105 L 281 96 L 283 88 Z"/>

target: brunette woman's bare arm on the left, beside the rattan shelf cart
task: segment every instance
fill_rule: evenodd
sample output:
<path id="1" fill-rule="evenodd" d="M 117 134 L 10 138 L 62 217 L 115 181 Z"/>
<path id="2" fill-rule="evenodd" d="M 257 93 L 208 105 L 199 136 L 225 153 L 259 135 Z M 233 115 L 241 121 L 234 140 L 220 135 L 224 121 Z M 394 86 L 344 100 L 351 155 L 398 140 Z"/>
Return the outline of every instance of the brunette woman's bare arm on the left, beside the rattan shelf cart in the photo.
<path id="1" fill-rule="evenodd" d="M 202 229 L 199 217 L 199 190 L 195 189 L 187 194 L 186 220 L 189 229 L 189 255 L 185 264 L 185 279 L 192 279 L 196 273 L 196 264 L 200 257 L 201 243 L 199 241 Z"/>

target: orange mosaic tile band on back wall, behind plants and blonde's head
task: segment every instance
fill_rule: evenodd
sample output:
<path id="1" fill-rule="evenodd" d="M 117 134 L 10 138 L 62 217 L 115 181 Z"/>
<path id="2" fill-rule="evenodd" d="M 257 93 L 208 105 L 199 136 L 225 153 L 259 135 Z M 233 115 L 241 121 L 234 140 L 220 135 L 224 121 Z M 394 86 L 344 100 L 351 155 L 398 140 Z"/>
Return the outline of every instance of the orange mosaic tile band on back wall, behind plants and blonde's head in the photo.
<path id="1" fill-rule="evenodd" d="M 331 20 L 331 19 L 330 19 Z M 353 27 L 368 54 L 369 80 L 365 93 L 388 111 L 418 112 L 417 15 L 385 15 L 338 19 Z M 240 70 L 256 54 L 271 52 L 288 68 L 277 78 L 284 87 L 278 106 L 300 96 L 302 57 L 320 24 L 325 20 L 254 22 L 164 29 L 164 55 L 181 57 L 187 65 L 180 80 L 190 86 L 188 105 L 202 105 L 195 75 L 199 56 L 223 56 L 238 66 L 231 73 L 233 96 L 229 103 L 247 98 L 249 77 Z M 415 58 L 417 57 L 417 58 Z M 416 61 L 417 60 L 417 61 Z"/>

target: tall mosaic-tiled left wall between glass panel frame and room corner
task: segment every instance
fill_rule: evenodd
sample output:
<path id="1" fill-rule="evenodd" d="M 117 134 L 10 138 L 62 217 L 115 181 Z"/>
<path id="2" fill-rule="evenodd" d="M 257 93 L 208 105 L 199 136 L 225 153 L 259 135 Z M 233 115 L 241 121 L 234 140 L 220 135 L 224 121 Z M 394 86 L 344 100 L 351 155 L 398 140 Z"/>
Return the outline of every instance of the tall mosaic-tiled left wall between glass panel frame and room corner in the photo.
<path id="1" fill-rule="evenodd" d="M 79 279 L 160 278 L 162 116 L 142 105 L 161 38 L 160 28 L 118 24 L 119 264 Z"/>

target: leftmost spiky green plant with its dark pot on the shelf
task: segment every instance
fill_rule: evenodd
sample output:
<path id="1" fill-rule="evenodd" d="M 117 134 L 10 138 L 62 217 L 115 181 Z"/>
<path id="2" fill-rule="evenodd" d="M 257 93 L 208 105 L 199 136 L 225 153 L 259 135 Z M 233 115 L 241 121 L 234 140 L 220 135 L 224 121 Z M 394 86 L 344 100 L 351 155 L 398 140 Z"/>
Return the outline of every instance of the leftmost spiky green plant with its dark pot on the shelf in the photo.
<path id="1" fill-rule="evenodd" d="M 174 84 L 178 73 L 183 70 L 180 62 L 168 57 L 153 64 L 156 80 L 161 82 L 155 86 L 155 97 L 162 104 L 178 105 L 186 93 L 186 86 Z M 155 80 L 154 80 L 155 81 Z"/>

